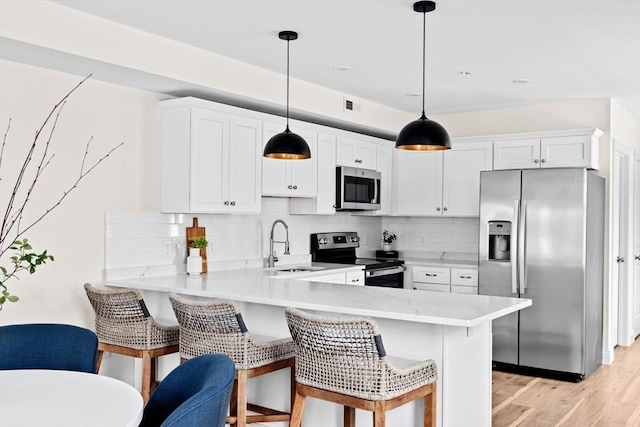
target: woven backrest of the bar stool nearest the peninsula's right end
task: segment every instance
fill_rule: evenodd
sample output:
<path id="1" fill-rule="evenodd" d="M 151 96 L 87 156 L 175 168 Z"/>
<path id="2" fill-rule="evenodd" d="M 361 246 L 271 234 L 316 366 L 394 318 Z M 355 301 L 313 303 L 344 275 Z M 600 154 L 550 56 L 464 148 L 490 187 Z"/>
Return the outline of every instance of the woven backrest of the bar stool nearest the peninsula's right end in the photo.
<path id="1" fill-rule="evenodd" d="M 294 308 L 285 317 L 296 346 L 296 381 L 351 395 L 380 389 L 386 353 L 372 319 L 318 316 Z"/>

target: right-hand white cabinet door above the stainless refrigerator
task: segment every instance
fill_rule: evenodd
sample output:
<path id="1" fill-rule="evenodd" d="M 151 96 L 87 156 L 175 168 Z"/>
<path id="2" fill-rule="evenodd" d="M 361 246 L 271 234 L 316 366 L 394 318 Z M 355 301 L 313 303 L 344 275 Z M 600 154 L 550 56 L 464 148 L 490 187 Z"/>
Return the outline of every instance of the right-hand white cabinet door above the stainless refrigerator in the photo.
<path id="1" fill-rule="evenodd" d="M 571 135 L 542 138 L 543 168 L 594 167 L 591 159 L 591 136 Z"/>

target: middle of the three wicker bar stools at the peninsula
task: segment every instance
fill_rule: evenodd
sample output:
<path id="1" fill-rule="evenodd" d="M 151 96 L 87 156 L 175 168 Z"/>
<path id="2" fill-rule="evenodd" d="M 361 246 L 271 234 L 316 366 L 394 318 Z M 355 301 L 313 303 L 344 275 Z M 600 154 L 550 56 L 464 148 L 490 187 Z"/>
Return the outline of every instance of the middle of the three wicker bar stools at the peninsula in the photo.
<path id="1" fill-rule="evenodd" d="M 227 300 L 193 300 L 170 294 L 180 324 L 180 359 L 208 353 L 223 353 L 233 359 L 236 378 L 227 423 L 245 427 L 250 423 L 289 421 L 290 413 L 247 402 L 249 378 L 291 368 L 291 403 L 295 363 L 291 338 L 274 339 L 248 332 L 242 314 Z M 259 415 L 247 415 L 247 410 Z"/>

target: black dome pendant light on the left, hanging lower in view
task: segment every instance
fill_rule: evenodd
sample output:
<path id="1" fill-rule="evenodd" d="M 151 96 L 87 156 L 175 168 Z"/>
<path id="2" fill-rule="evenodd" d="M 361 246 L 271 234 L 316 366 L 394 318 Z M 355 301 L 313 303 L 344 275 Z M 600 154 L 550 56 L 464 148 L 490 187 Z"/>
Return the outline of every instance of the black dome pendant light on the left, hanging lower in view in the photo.
<path id="1" fill-rule="evenodd" d="M 271 137 L 264 147 L 264 157 L 271 159 L 301 160 L 311 157 L 309 145 L 300 135 L 289 130 L 289 42 L 298 38 L 295 31 L 280 31 L 278 37 L 287 41 L 287 128 Z"/>

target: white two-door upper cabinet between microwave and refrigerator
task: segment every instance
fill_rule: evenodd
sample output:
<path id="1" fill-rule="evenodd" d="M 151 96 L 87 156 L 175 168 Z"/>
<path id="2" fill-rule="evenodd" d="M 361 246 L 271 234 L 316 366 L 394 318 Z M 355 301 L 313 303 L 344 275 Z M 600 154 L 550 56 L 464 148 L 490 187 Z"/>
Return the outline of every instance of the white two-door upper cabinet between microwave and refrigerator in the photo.
<path id="1" fill-rule="evenodd" d="M 478 216 L 480 171 L 492 169 L 493 145 L 455 142 L 447 151 L 394 153 L 396 215 Z"/>

